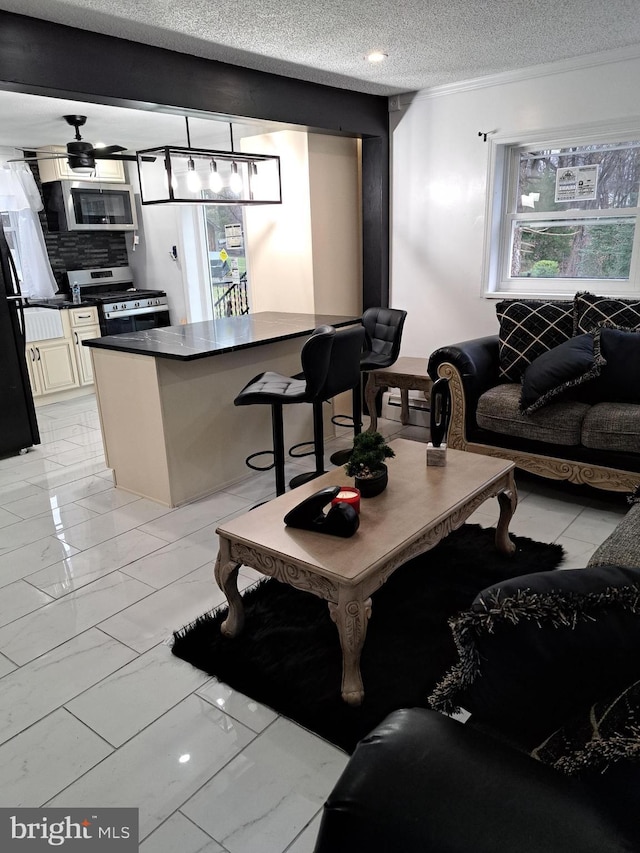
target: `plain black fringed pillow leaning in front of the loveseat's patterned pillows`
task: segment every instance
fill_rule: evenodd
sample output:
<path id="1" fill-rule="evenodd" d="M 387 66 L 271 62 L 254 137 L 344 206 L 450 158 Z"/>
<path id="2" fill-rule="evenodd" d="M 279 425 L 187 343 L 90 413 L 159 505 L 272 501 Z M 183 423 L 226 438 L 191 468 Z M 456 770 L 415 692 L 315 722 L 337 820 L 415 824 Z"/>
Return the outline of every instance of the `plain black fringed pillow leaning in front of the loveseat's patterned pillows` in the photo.
<path id="1" fill-rule="evenodd" d="M 600 333 L 578 335 L 539 355 L 522 377 L 520 411 L 530 415 L 555 397 L 600 375 Z"/>

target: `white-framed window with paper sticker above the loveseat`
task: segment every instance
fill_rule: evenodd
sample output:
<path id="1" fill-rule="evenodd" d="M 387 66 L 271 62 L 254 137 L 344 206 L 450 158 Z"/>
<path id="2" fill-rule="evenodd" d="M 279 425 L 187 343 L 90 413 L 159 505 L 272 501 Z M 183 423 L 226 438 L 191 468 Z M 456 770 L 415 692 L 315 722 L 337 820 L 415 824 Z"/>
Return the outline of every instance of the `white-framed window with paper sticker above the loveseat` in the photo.
<path id="1" fill-rule="evenodd" d="M 488 293 L 640 291 L 640 141 L 497 148 Z"/>

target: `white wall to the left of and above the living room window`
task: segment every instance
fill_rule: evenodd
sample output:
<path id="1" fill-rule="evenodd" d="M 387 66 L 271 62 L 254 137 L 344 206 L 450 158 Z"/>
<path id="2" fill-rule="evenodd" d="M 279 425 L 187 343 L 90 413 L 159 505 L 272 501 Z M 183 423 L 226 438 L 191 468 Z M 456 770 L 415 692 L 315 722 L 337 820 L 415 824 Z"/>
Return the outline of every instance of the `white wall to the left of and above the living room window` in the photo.
<path id="1" fill-rule="evenodd" d="M 391 113 L 391 305 L 408 311 L 402 355 L 426 358 L 497 332 L 495 300 L 481 296 L 489 145 L 478 131 L 526 141 L 638 116 L 640 137 L 640 57 L 610 60 L 426 91 Z"/>

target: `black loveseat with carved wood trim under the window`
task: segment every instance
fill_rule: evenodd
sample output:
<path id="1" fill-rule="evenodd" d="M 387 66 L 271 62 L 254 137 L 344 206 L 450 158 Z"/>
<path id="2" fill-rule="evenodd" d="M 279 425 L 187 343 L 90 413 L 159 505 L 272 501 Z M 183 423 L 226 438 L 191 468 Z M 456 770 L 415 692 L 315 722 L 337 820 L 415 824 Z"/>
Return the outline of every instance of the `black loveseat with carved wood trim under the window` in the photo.
<path id="1" fill-rule="evenodd" d="M 544 477 L 616 491 L 635 488 L 640 301 L 579 293 L 568 302 L 512 300 L 496 307 L 498 334 L 440 347 L 429 358 L 431 378 L 444 376 L 450 383 L 448 446 L 512 459 Z M 623 327 L 611 328 L 614 323 Z M 572 374 L 575 349 L 568 348 L 580 341 L 589 342 L 591 361 L 585 365 L 580 352 Z M 527 413 L 522 393 L 536 359 L 543 380 L 551 377 L 554 387 L 547 384 L 538 408 Z"/>

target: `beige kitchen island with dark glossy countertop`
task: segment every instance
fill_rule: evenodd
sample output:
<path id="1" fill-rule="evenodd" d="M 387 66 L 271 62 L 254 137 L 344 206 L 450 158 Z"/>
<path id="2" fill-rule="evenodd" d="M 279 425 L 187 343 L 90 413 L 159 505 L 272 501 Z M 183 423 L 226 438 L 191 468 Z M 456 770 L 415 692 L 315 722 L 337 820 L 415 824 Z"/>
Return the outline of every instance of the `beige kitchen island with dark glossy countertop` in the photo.
<path id="1" fill-rule="evenodd" d="M 247 476 L 250 453 L 272 447 L 271 407 L 237 408 L 265 370 L 300 372 L 304 339 L 359 317 L 262 312 L 86 341 L 114 484 L 179 506 Z M 311 406 L 285 406 L 287 446 L 311 440 Z"/>

